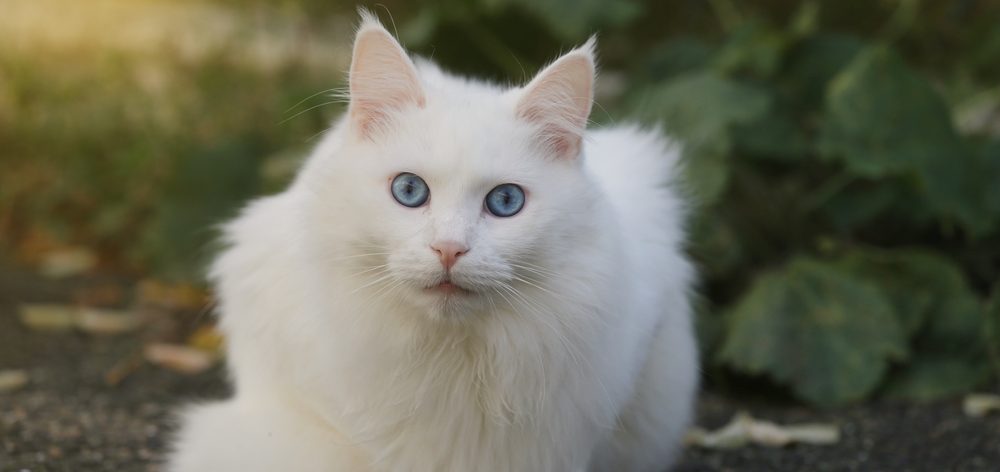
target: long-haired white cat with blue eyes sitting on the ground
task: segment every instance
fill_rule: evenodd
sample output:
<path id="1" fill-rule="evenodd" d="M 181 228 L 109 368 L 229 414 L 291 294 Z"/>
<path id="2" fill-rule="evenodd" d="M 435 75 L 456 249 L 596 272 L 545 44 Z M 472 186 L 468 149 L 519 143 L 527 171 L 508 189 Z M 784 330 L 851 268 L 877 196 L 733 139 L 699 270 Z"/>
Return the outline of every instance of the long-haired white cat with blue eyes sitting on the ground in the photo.
<path id="1" fill-rule="evenodd" d="M 668 468 L 698 377 L 676 152 L 585 131 L 593 41 L 504 89 L 362 16 L 347 115 L 227 226 L 235 395 L 168 470 Z"/>

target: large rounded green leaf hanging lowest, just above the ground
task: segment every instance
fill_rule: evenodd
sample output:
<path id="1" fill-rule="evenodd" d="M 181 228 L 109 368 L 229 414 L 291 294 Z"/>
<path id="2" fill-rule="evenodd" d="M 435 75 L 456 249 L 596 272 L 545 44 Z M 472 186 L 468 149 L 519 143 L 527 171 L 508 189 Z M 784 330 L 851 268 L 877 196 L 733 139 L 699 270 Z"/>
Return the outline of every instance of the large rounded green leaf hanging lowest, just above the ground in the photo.
<path id="1" fill-rule="evenodd" d="M 760 276 L 731 313 L 722 362 L 768 374 L 801 398 L 864 398 L 907 355 L 890 302 L 871 284 L 808 258 Z"/>

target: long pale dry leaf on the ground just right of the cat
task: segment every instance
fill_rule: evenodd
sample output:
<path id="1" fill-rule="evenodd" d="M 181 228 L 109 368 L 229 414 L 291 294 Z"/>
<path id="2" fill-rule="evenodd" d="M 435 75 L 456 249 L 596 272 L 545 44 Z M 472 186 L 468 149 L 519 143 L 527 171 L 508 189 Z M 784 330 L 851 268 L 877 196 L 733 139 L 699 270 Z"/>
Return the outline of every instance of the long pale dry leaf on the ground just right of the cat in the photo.
<path id="1" fill-rule="evenodd" d="M 686 438 L 687 444 L 708 449 L 732 449 L 750 443 L 781 447 L 796 442 L 823 445 L 838 441 L 840 430 L 831 424 L 780 426 L 755 419 L 745 412 L 737 413 L 729 424 L 716 431 L 694 428 Z"/>

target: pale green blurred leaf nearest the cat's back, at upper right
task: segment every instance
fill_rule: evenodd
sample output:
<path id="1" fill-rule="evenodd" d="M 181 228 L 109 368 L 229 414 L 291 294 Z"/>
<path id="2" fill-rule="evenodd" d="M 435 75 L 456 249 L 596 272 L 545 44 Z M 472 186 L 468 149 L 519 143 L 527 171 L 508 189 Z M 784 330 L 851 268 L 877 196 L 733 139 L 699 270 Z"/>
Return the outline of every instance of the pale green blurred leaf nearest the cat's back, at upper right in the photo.
<path id="1" fill-rule="evenodd" d="M 770 105 L 764 91 L 713 72 L 682 74 L 640 98 L 637 114 L 662 121 L 684 142 L 690 185 L 705 204 L 718 199 L 728 182 L 730 128 L 758 119 Z"/>

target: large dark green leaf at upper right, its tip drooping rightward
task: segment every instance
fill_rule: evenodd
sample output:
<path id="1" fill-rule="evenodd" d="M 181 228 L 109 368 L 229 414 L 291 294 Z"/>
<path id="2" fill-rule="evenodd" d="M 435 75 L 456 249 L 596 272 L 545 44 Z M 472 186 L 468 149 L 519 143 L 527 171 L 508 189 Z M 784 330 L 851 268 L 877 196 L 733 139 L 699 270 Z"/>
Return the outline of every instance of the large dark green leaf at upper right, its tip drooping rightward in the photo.
<path id="1" fill-rule="evenodd" d="M 868 178 L 909 177 L 926 204 L 974 234 L 992 227 L 971 149 L 927 80 L 886 46 L 860 52 L 830 83 L 821 153 Z"/>

